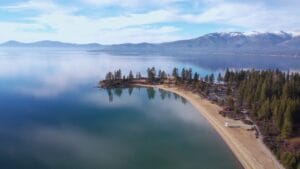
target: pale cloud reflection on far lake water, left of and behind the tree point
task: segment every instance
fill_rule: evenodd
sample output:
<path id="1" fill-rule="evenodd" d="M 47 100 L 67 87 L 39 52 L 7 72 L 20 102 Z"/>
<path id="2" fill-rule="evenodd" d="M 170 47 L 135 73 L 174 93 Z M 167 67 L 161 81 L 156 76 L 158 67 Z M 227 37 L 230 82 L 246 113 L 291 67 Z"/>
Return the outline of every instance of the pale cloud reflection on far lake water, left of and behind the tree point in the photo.
<path id="1" fill-rule="evenodd" d="M 152 66 L 167 72 L 174 67 L 191 67 L 203 76 L 217 71 L 203 69 L 188 59 L 184 61 L 166 56 L 116 56 L 59 49 L 1 49 L 0 90 L 51 98 L 80 90 L 83 85 L 95 86 L 108 71 L 121 69 L 128 74 L 132 70 L 145 75 L 147 67 Z"/>

